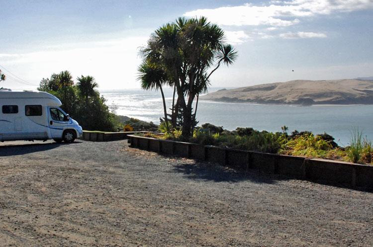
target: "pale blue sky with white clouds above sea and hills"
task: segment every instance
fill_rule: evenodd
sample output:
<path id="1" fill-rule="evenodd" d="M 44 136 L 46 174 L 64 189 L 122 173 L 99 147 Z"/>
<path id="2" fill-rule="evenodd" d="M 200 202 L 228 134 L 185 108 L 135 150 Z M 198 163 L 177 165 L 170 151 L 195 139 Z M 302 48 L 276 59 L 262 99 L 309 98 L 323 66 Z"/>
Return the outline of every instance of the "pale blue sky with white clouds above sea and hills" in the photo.
<path id="1" fill-rule="evenodd" d="M 100 89 L 138 88 L 138 48 L 162 24 L 200 15 L 239 53 L 212 86 L 373 76 L 373 0 L 0 0 L 0 9 L 8 88 L 36 88 L 62 70 Z"/>

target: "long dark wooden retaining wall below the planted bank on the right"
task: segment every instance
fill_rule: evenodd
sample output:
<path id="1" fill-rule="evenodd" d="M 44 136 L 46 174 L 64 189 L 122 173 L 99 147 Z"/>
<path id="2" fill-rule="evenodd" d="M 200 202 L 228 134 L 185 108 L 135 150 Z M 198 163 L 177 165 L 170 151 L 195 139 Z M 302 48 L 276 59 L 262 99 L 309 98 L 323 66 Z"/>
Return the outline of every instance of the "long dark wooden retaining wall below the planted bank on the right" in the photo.
<path id="1" fill-rule="evenodd" d="M 226 149 L 134 135 L 128 135 L 128 138 L 133 148 L 218 163 L 240 170 L 257 168 L 298 179 L 373 189 L 373 165 Z"/>

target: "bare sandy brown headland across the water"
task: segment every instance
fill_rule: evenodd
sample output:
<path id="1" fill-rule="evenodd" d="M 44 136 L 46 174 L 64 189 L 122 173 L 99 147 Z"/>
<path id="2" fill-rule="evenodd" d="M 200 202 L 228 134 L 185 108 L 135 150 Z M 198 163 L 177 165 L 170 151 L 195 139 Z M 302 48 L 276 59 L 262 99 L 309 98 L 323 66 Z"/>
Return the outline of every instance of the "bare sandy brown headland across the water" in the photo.
<path id="1" fill-rule="evenodd" d="M 275 82 L 221 89 L 200 99 L 295 105 L 373 104 L 373 81 L 364 79 Z"/>

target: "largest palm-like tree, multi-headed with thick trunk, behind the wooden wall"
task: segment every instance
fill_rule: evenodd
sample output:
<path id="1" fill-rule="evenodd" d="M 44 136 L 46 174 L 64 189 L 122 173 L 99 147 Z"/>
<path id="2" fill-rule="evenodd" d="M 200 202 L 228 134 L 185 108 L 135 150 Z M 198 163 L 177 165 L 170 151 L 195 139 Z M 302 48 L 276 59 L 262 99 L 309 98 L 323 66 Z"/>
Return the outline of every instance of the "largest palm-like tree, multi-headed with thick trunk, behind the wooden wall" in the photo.
<path id="1" fill-rule="evenodd" d="M 194 98 L 198 99 L 199 93 L 207 90 L 209 77 L 222 62 L 226 65 L 233 63 L 237 52 L 224 43 L 223 30 L 209 23 L 205 17 L 181 17 L 175 23 L 157 29 L 140 53 L 144 61 L 160 68 L 175 86 L 178 94 L 176 108 L 180 106 L 183 109 L 182 135 L 189 137 L 192 115 L 196 113 L 191 112 Z M 216 67 L 207 73 L 214 64 Z"/>

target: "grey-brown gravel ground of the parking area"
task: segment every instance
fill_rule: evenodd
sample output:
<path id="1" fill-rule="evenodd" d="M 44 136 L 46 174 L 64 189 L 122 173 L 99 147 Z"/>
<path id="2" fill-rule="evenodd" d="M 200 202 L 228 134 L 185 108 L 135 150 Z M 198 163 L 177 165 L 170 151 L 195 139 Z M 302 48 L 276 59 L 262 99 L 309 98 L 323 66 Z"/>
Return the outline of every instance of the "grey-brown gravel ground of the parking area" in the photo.
<path id="1" fill-rule="evenodd" d="M 373 193 L 131 149 L 0 144 L 0 246 L 373 246 Z"/>

